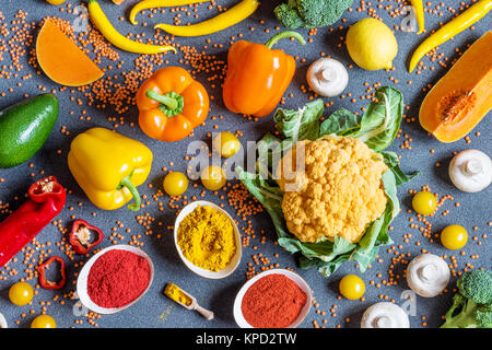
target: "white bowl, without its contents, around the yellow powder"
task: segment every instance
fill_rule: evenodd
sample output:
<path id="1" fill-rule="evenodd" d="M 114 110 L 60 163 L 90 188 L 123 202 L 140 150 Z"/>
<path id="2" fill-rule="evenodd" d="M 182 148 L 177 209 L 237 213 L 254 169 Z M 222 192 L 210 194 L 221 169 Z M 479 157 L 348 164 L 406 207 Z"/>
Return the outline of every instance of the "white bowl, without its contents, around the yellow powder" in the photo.
<path id="1" fill-rule="evenodd" d="M 212 209 L 223 212 L 225 215 L 227 215 L 229 220 L 231 220 L 231 223 L 233 225 L 234 237 L 235 237 L 235 243 L 236 243 L 236 254 L 233 256 L 233 258 L 231 259 L 229 265 L 225 268 L 223 268 L 222 270 L 210 271 L 210 270 L 202 269 L 201 267 L 194 265 L 191 261 L 189 261 L 185 257 L 185 255 L 181 252 L 181 248 L 179 247 L 179 245 L 177 243 L 177 234 L 178 234 L 179 224 L 181 223 L 183 219 L 185 219 L 186 215 L 191 213 L 198 206 L 211 207 Z M 181 211 L 179 212 L 178 217 L 176 218 L 176 222 L 174 224 L 174 245 L 176 246 L 176 250 L 178 252 L 179 257 L 181 258 L 183 262 L 185 262 L 187 268 L 189 268 L 192 272 L 195 272 L 201 277 L 212 279 L 212 280 L 225 278 L 225 277 L 230 276 L 231 273 L 233 273 L 236 270 L 237 266 L 239 266 L 241 257 L 243 255 L 239 230 L 237 229 L 237 225 L 234 222 L 233 218 L 231 218 L 231 215 L 221 207 L 219 207 L 210 201 L 206 201 L 206 200 L 194 201 L 181 209 Z"/>

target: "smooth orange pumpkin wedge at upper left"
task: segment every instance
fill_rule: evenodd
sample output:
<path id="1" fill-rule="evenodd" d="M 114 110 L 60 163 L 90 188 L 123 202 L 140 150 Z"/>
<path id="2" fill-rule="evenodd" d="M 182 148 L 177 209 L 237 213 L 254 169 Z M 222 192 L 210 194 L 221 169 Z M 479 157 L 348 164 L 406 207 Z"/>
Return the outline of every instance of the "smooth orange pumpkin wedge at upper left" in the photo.
<path id="1" fill-rule="evenodd" d="M 49 19 L 37 35 L 36 56 L 46 75 L 61 85 L 86 85 L 104 74 Z"/>

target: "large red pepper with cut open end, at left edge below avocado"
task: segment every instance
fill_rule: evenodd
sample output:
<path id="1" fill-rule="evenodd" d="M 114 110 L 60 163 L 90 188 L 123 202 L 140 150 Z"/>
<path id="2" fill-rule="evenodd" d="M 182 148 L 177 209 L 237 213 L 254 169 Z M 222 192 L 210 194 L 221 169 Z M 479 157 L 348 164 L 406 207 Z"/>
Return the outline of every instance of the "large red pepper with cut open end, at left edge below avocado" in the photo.
<path id="1" fill-rule="evenodd" d="M 0 268 L 58 215 L 67 197 L 55 176 L 31 185 L 28 195 L 30 199 L 0 223 Z"/>

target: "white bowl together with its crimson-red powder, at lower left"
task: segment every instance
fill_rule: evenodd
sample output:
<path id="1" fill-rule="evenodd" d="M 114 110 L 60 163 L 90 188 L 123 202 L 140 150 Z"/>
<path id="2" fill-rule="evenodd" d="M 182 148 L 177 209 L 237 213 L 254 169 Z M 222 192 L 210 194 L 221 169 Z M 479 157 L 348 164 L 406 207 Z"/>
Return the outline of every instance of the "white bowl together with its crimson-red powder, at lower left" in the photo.
<path id="1" fill-rule="evenodd" d="M 140 300 L 152 284 L 151 258 L 131 245 L 115 245 L 94 255 L 80 271 L 77 293 L 98 314 L 120 312 Z"/>

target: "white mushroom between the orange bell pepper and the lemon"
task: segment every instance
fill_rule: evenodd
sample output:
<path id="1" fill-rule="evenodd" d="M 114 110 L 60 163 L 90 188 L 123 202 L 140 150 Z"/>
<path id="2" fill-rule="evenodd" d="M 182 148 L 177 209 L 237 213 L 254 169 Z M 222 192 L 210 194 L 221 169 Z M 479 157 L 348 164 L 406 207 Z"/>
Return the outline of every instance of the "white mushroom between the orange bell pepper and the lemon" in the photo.
<path id="1" fill-rule="evenodd" d="M 320 58 L 307 70 L 307 83 L 315 93 L 325 97 L 340 95 L 349 84 L 349 73 L 332 58 Z"/>

